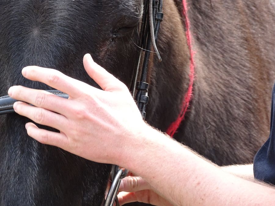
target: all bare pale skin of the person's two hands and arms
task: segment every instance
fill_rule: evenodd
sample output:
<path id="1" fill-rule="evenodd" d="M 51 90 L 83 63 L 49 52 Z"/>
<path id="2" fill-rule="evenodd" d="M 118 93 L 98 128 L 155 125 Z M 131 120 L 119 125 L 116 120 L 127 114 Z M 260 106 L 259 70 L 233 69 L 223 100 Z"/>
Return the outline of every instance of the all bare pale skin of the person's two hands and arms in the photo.
<path id="1" fill-rule="evenodd" d="M 121 204 L 273 204 L 275 190 L 254 181 L 252 165 L 218 167 L 150 127 L 122 82 L 97 65 L 89 54 L 83 63 L 102 90 L 57 70 L 35 66 L 22 70 L 25 78 L 69 95 L 69 99 L 62 99 L 22 86 L 9 89 L 9 95 L 20 100 L 14 104 L 16 113 L 60 131 L 50 132 L 27 123 L 29 136 L 91 161 L 128 168 L 135 176 L 123 179 Z"/>

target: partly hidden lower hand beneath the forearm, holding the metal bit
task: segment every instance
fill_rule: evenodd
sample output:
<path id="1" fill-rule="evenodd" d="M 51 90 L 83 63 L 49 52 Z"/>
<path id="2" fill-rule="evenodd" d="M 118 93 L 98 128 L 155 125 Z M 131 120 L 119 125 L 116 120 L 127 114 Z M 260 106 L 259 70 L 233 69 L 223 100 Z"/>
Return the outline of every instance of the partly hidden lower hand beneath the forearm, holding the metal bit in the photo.
<path id="1" fill-rule="evenodd" d="M 118 200 L 120 205 L 130 202 L 143 202 L 161 206 L 172 205 L 166 199 L 157 194 L 150 184 L 141 177 L 125 177 L 121 180 L 119 191 Z"/>

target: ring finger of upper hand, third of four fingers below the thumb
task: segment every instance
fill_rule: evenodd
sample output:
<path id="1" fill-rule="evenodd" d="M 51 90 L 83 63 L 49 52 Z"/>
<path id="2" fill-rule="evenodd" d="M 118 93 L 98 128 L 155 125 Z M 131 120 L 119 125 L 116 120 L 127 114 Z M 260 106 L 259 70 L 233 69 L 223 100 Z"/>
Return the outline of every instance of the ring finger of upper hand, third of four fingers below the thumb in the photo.
<path id="1" fill-rule="evenodd" d="M 16 102 L 13 104 L 13 108 L 17 114 L 28 117 L 40 125 L 46 125 L 61 131 L 64 131 L 68 123 L 67 118 L 61 114 L 30 106 L 27 103 Z"/>

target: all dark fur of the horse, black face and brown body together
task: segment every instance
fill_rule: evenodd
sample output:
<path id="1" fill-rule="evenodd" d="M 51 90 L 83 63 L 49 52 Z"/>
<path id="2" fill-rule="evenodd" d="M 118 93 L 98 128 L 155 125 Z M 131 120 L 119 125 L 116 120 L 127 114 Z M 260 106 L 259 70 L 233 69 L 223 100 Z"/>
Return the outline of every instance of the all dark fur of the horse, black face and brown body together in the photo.
<path id="1" fill-rule="evenodd" d="M 0 0 L 0 96 L 18 84 L 49 89 L 21 76 L 28 65 L 96 86 L 82 66 L 85 53 L 130 88 L 142 2 Z M 188 6 L 196 79 L 175 138 L 219 165 L 251 162 L 269 131 L 274 5 L 194 0 Z M 162 131 L 177 118 L 189 84 L 181 7 L 180 0 L 164 0 L 163 61 L 151 61 L 148 80 L 147 121 Z M 36 142 L 24 129 L 27 121 L 0 117 L 0 205 L 101 205 L 111 166 Z"/>

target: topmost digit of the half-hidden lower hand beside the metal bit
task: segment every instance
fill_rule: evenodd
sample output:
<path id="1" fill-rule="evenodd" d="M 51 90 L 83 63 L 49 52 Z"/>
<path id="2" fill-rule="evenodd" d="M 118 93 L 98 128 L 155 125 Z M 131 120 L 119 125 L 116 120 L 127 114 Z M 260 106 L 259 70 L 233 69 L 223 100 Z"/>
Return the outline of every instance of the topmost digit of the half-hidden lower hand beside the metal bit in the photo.
<path id="1" fill-rule="evenodd" d="M 121 180 L 119 191 L 137 192 L 140 190 L 151 190 L 151 186 L 141 177 L 128 176 Z"/>

